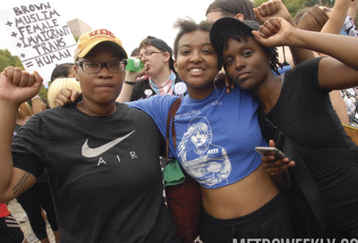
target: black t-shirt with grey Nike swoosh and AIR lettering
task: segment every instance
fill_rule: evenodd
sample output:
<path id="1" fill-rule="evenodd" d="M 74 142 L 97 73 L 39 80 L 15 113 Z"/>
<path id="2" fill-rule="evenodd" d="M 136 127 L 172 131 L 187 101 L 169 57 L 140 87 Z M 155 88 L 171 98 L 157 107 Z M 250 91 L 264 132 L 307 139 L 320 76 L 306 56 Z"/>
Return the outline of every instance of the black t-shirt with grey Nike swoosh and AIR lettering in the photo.
<path id="1" fill-rule="evenodd" d="M 116 113 L 92 117 L 70 105 L 26 122 L 13 163 L 36 177 L 47 169 L 63 242 L 172 242 L 162 146 L 146 113 L 117 104 Z"/>

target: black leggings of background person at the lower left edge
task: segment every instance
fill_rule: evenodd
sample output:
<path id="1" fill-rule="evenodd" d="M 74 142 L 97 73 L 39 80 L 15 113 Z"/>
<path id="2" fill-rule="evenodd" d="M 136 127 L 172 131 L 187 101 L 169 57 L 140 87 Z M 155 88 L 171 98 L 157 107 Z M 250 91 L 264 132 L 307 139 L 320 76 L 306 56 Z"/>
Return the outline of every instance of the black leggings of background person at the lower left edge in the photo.
<path id="1" fill-rule="evenodd" d="M 21 193 L 17 201 L 29 217 L 31 229 L 38 239 L 46 239 L 46 222 L 41 215 L 41 206 L 46 212 L 52 230 L 58 230 L 54 201 L 48 182 L 38 182 Z"/>

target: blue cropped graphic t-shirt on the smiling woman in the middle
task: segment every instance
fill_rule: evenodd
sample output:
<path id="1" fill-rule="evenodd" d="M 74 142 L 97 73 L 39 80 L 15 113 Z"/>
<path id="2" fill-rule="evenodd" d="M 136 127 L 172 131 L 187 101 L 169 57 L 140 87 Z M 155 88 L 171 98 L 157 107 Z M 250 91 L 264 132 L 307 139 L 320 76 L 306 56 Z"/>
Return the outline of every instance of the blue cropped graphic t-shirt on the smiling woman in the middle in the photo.
<path id="1" fill-rule="evenodd" d="M 177 97 L 154 96 L 127 103 L 153 118 L 166 136 L 166 118 Z M 260 165 L 256 146 L 267 146 L 257 117 L 259 103 L 251 93 L 216 88 L 200 100 L 184 96 L 175 115 L 176 145 L 170 151 L 193 179 L 209 189 L 243 179 Z"/>

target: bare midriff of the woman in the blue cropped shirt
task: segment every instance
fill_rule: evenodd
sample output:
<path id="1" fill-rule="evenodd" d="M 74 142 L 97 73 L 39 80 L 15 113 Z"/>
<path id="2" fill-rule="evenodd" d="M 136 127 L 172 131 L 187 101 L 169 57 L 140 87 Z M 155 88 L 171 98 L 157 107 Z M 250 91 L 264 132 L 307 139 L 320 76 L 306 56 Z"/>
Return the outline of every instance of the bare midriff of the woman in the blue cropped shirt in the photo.
<path id="1" fill-rule="evenodd" d="M 233 219 L 255 212 L 277 196 L 279 189 L 260 165 L 242 180 L 218 189 L 201 187 L 205 211 L 217 219 Z"/>

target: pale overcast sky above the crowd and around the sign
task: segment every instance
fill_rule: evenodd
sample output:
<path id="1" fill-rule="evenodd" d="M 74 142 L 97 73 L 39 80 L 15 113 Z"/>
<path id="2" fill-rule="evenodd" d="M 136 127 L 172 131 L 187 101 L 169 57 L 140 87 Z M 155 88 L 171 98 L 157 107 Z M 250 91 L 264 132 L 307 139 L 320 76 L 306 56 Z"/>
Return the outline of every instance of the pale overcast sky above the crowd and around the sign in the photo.
<path id="1" fill-rule="evenodd" d="M 214 0 L 5 0 L 0 9 L 14 6 L 49 3 L 64 21 L 80 19 L 92 29 L 108 29 L 123 42 L 128 54 L 143 38 L 154 36 L 173 47 L 177 29 L 173 24 L 178 18 L 191 17 L 194 21 L 205 20 L 205 12 Z M 16 54 L 15 47 L 0 25 L 0 49 Z"/>

